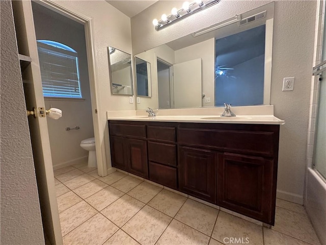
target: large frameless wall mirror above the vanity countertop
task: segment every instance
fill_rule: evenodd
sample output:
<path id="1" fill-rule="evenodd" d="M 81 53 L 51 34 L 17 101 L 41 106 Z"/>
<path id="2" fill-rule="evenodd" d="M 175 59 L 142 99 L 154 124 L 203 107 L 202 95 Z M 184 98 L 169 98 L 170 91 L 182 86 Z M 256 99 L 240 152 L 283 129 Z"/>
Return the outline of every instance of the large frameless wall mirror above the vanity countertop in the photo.
<path id="1" fill-rule="evenodd" d="M 269 105 L 273 22 L 269 3 L 138 54 L 153 95 L 137 108 Z"/>

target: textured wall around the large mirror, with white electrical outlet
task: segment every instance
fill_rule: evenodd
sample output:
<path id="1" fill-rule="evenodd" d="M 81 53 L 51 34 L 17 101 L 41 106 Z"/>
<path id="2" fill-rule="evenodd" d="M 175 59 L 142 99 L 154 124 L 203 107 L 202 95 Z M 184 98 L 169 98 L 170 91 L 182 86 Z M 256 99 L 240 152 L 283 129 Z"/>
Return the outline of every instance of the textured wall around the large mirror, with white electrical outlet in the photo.
<path id="1" fill-rule="evenodd" d="M 221 1 L 157 32 L 152 20 L 182 6 L 180 1 L 158 1 L 131 18 L 133 52 L 149 50 L 267 3 Z M 316 1 L 275 3 L 270 104 L 286 122 L 280 132 L 278 196 L 298 203 L 303 202 L 304 192 L 315 10 Z M 293 91 L 282 92 L 284 77 L 295 77 Z"/>

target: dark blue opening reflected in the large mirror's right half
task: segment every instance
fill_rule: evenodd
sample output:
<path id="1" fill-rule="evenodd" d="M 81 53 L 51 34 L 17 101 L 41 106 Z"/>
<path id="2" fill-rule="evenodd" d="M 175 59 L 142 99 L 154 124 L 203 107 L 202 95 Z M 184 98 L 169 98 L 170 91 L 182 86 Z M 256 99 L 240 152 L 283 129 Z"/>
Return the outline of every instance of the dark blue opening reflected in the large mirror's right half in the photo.
<path id="1" fill-rule="evenodd" d="M 215 106 L 264 104 L 265 25 L 215 41 Z"/>

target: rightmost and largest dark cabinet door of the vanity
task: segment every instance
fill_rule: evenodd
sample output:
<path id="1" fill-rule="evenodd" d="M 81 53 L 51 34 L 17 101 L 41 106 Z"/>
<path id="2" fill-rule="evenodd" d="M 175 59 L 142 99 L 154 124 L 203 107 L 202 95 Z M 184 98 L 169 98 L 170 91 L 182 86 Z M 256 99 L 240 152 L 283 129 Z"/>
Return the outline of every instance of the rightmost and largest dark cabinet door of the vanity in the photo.
<path id="1" fill-rule="evenodd" d="M 274 225 L 273 160 L 219 154 L 218 205 Z"/>

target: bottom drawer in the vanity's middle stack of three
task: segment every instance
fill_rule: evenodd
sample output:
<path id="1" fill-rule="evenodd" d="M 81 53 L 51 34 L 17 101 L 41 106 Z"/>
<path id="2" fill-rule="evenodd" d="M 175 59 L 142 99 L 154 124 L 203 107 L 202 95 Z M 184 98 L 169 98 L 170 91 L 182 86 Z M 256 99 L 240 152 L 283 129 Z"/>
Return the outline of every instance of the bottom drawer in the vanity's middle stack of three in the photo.
<path id="1" fill-rule="evenodd" d="M 149 179 L 158 184 L 177 188 L 177 169 L 154 162 L 149 162 Z"/>

